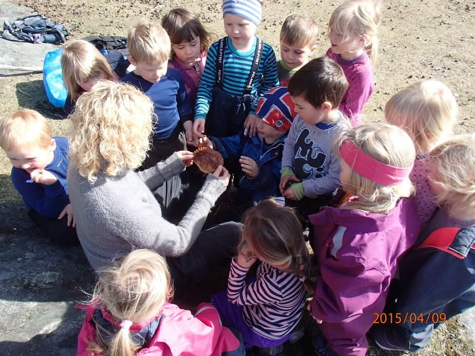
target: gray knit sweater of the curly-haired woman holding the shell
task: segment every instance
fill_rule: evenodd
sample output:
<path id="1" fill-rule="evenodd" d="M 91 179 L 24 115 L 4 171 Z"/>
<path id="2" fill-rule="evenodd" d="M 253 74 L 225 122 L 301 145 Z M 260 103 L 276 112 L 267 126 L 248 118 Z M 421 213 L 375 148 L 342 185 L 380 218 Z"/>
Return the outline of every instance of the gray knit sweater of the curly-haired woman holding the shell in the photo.
<path id="1" fill-rule="evenodd" d="M 174 225 L 162 217 L 151 192 L 183 170 L 175 153 L 142 172 L 127 169 L 110 176 L 99 172 L 94 184 L 71 168 L 69 198 L 79 240 L 94 270 L 134 248 L 155 250 L 163 256 L 184 254 L 195 242 L 210 209 L 226 189 L 208 175 L 183 220 Z"/>

